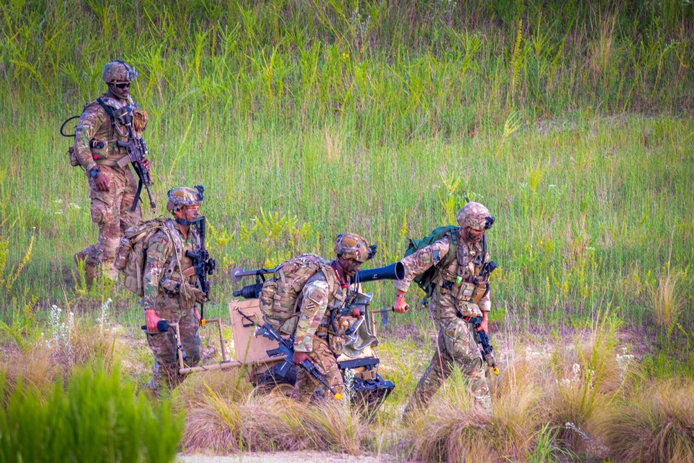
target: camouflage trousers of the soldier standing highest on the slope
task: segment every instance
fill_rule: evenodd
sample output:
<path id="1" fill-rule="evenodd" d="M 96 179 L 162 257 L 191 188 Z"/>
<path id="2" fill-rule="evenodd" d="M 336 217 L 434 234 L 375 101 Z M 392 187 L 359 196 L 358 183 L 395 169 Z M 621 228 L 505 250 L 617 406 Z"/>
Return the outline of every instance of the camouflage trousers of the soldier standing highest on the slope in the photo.
<path id="1" fill-rule="evenodd" d="M 75 260 L 85 260 L 85 273 L 88 280 L 96 277 L 97 269 L 108 278 L 115 280 L 118 271 L 113 265 L 116 251 L 126 228 L 137 224 L 142 219 L 142 212 L 137 204 L 135 211 L 130 210 L 135 201 L 137 180 L 129 167 L 109 167 L 102 165 L 101 173 L 108 180 L 108 192 L 100 192 L 89 179 L 90 198 L 92 199 L 92 221 L 99 228 L 99 238 L 75 254 Z"/>

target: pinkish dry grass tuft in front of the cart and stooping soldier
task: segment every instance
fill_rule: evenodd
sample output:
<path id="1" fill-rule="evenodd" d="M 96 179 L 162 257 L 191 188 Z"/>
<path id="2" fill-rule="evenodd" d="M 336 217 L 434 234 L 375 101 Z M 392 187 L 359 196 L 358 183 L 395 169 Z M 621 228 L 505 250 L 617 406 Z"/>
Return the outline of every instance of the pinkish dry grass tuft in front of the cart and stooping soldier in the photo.
<path id="1" fill-rule="evenodd" d="M 229 374 L 229 373 L 226 373 Z M 226 385 L 245 385 L 226 393 L 198 378 L 181 392 L 187 398 L 183 448 L 186 452 L 215 451 L 333 451 L 356 455 L 362 451 L 367 424 L 357 412 L 336 401 L 303 405 L 283 396 L 260 396 L 242 372 Z M 212 376 L 212 381 L 219 378 Z M 218 382 L 219 384 L 219 382 Z"/>

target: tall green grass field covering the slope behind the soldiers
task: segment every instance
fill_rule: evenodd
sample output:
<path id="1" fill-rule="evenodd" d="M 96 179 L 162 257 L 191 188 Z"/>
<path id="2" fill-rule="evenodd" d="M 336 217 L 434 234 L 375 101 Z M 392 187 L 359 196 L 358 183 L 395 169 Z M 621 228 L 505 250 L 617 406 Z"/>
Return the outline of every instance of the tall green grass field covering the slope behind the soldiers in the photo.
<path id="1" fill-rule="evenodd" d="M 691 377 L 693 19 L 673 0 L 10 2 L 0 319 L 16 329 L 5 332 L 26 342 L 22 323 L 43 323 L 53 303 L 94 319 L 106 297 L 113 321 L 141 323 L 132 294 L 76 282 L 72 254 L 96 228 L 58 133 L 122 58 L 150 116 L 159 212 L 169 188 L 205 185 L 212 313 L 239 287 L 232 267 L 329 256 L 346 231 L 378 242 L 387 264 L 408 238 L 453 223 L 466 191 L 497 217 L 500 330 L 561 345 L 609 310 L 650 349 L 644 385 Z M 389 284 L 373 289 L 377 305 L 392 302 Z M 430 329 L 418 313 L 393 323 Z"/>

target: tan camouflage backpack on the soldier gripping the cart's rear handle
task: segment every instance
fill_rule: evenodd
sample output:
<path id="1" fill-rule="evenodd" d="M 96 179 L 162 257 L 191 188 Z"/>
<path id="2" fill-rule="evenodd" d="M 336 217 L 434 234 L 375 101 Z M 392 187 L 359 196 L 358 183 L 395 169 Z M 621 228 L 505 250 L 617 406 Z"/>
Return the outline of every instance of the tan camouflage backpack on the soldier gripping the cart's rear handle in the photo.
<path id="1" fill-rule="evenodd" d="M 128 291 L 144 296 L 144 266 L 147 261 L 147 246 L 149 240 L 158 230 L 165 230 L 172 240 L 178 239 L 178 234 L 171 230 L 171 221 L 164 217 L 142 221 L 131 226 L 121 237 L 121 242 L 116 253 L 115 266 L 123 275 L 123 284 Z M 182 249 L 180 243 L 176 248 Z M 171 260 L 171 264 L 176 260 Z M 170 265 L 171 265 L 170 264 Z"/>

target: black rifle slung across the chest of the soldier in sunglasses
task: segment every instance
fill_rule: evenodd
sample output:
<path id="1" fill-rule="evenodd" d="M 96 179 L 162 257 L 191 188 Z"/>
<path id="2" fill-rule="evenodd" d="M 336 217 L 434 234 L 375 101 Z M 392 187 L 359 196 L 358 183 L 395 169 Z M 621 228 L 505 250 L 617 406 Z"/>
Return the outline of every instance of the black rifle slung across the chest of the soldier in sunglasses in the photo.
<path id="1" fill-rule="evenodd" d="M 147 190 L 147 196 L 149 196 L 149 207 L 152 208 L 153 212 L 156 212 L 157 204 L 154 202 L 154 199 L 152 199 L 152 193 L 149 191 L 149 187 L 154 185 L 152 174 L 149 169 L 146 169 L 142 165 L 143 158 L 149 156 L 149 150 L 147 149 L 147 144 L 144 142 L 144 138 L 136 137 L 135 132 L 133 131 L 133 108 L 130 106 L 124 106 L 123 108 L 114 111 L 106 106 L 101 98 L 97 98 L 96 102 L 101 105 L 101 108 L 103 108 L 103 110 L 105 110 L 105 112 L 111 118 L 111 124 L 115 128 L 117 128 L 115 124 L 116 117 L 121 121 L 121 124 L 128 128 L 128 141 L 121 142 L 119 140 L 116 142 L 116 146 L 126 149 L 126 152 L 128 153 L 128 160 L 130 160 L 130 163 L 133 165 L 133 169 L 135 169 L 135 174 L 137 174 L 137 178 L 139 178 L 139 183 L 137 184 L 137 193 L 135 193 L 133 206 L 130 208 L 130 210 L 135 211 L 137 208 L 139 195 L 142 193 L 142 186 L 144 185 L 145 190 Z M 127 162 L 123 165 L 121 165 L 121 161 L 118 162 L 118 165 L 121 168 L 125 167 L 126 164 Z"/>

